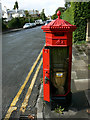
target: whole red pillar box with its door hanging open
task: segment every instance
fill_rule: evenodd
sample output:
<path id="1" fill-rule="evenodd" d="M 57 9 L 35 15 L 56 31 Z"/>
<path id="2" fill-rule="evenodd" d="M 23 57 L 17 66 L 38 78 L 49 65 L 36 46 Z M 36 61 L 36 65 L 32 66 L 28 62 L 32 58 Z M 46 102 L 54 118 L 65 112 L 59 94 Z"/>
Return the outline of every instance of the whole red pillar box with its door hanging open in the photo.
<path id="1" fill-rule="evenodd" d="M 45 32 L 43 48 L 44 100 L 66 100 L 71 94 L 72 32 L 75 25 L 58 18 L 41 27 Z"/>

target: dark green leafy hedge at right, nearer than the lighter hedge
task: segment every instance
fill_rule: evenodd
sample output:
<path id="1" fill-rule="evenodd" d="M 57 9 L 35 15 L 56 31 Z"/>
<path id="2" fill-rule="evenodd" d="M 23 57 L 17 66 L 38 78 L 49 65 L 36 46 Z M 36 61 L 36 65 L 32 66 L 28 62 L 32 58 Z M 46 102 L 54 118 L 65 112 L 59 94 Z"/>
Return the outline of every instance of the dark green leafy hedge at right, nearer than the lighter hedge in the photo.
<path id="1" fill-rule="evenodd" d="M 87 18 L 89 17 L 90 2 L 74 3 L 74 23 L 77 26 L 74 32 L 74 41 L 86 40 Z"/>

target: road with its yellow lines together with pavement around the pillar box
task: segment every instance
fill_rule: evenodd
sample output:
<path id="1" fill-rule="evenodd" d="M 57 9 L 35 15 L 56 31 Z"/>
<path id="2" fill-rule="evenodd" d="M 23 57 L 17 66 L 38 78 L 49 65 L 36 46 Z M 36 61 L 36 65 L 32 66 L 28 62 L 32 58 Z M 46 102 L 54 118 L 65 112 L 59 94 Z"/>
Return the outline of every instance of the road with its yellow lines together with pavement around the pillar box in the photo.
<path id="1" fill-rule="evenodd" d="M 44 44 L 45 34 L 40 26 L 3 34 L 2 115 L 4 120 L 28 117 L 28 115 L 39 118 L 40 114 L 43 114 L 45 118 L 55 117 L 53 115 L 56 113 L 53 114 L 48 105 L 43 106 L 43 92 L 40 89 Z M 72 111 L 68 110 L 65 115 L 66 117 L 71 115 L 71 117 L 87 118 L 86 109 L 90 104 L 87 95 L 88 57 L 83 50 L 79 52 L 77 48 L 73 46 L 72 50 L 71 90 L 73 97 L 72 105 L 69 107 Z M 38 98 L 40 98 L 40 103 L 37 102 Z M 38 106 L 37 103 L 39 103 Z"/>

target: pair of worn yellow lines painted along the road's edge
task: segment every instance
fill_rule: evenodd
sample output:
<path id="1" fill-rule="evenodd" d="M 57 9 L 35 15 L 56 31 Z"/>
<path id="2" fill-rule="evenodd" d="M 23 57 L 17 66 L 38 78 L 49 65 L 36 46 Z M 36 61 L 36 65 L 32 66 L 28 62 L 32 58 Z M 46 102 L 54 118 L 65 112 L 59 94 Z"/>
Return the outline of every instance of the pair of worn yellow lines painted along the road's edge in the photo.
<path id="1" fill-rule="evenodd" d="M 25 85 L 27 84 L 27 82 L 28 82 L 28 80 L 29 80 L 29 78 L 30 78 L 30 76 L 31 76 L 34 68 L 36 67 L 36 65 L 37 65 L 37 63 L 38 63 L 41 55 L 42 55 L 42 50 L 41 50 L 41 52 L 39 53 L 39 55 L 38 55 L 35 63 L 33 64 L 31 70 L 29 71 L 29 73 L 28 73 L 28 75 L 27 75 L 27 77 L 26 77 L 23 85 L 21 86 L 21 88 L 19 89 L 19 91 L 18 91 L 18 93 L 16 94 L 15 98 L 13 99 L 13 101 L 12 101 L 12 103 L 11 103 L 8 111 L 7 111 L 7 114 L 6 114 L 5 118 L 4 118 L 4 120 L 6 120 L 6 119 L 9 120 L 12 112 L 13 112 L 14 110 L 17 110 L 17 107 L 16 107 L 15 105 L 16 105 L 17 101 L 19 100 L 19 97 L 20 97 L 23 89 L 25 88 Z M 33 88 L 33 86 L 34 86 L 34 83 L 35 83 L 35 80 L 36 80 L 36 77 L 37 77 L 37 75 L 38 75 L 38 72 L 39 72 L 39 70 L 40 70 L 41 65 L 42 65 L 42 59 L 41 59 L 41 61 L 40 61 L 40 63 L 39 63 L 39 66 L 38 66 L 38 68 L 37 68 L 37 70 L 36 70 L 36 72 L 35 72 L 35 74 L 34 74 L 34 77 L 33 77 L 32 81 L 31 81 L 30 87 L 28 88 L 27 94 L 26 94 L 25 99 L 24 99 L 24 101 L 23 101 L 23 103 L 22 103 L 22 106 L 21 106 L 21 108 L 20 108 L 20 111 L 22 111 L 22 112 L 25 111 L 26 106 L 28 105 L 28 99 L 29 99 L 29 97 L 30 97 L 30 95 L 31 95 L 31 91 L 32 91 L 32 88 Z"/>

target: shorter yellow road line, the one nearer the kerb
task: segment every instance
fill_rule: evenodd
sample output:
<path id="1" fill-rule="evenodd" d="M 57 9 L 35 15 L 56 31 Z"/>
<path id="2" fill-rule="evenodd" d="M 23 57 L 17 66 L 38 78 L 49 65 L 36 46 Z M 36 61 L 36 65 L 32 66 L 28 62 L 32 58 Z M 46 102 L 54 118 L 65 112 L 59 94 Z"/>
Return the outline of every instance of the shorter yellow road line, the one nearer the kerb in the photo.
<path id="1" fill-rule="evenodd" d="M 38 68 L 37 68 L 37 70 L 36 70 L 36 72 L 35 72 L 35 74 L 34 74 L 34 76 L 33 76 L 32 82 L 31 82 L 31 84 L 30 84 L 30 86 L 29 86 L 29 88 L 28 88 L 27 94 L 26 94 L 26 96 L 25 96 L 25 98 L 24 98 L 24 101 L 23 101 L 23 103 L 22 103 L 22 106 L 21 106 L 21 108 L 20 108 L 20 111 L 22 111 L 22 112 L 25 112 L 26 106 L 28 105 L 28 100 L 29 100 L 29 97 L 30 97 L 30 95 L 31 95 L 31 92 L 32 92 L 32 89 L 33 89 L 33 86 L 34 86 L 36 77 L 37 77 L 37 75 L 38 75 L 38 72 L 39 72 L 39 70 L 40 70 L 40 67 L 41 67 L 41 65 L 42 65 L 42 62 L 43 62 L 43 61 L 42 61 L 42 59 L 41 59 L 40 64 L 39 64 L 39 66 L 38 66 Z"/>

